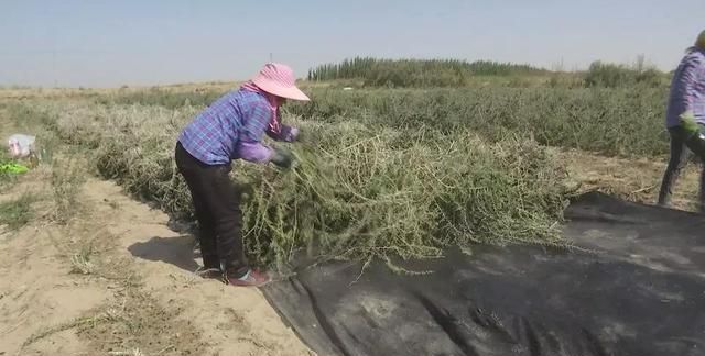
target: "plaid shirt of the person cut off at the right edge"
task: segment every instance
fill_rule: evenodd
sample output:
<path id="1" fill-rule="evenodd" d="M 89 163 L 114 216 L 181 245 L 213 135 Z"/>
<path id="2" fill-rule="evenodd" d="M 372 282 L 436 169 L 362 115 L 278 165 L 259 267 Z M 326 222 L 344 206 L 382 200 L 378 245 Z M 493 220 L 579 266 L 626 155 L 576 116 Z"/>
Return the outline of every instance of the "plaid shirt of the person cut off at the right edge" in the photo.
<path id="1" fill-rule="evenodd" d="M 680 124 L 679 116 L 692 111 L 698 123 L 705 123 L 705 52 L 693 48 L 688 52 L 673 74 L 666 126 Z"/>

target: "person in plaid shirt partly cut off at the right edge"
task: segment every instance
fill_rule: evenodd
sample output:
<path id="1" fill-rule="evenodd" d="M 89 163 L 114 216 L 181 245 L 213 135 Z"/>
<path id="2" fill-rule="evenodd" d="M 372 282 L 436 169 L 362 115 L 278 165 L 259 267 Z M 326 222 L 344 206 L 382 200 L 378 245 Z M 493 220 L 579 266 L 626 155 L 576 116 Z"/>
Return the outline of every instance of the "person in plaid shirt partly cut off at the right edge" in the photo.
<path id="1" fill-rule="evenodd" d="M 671 158 L 663 176 L 659 205 L 671 203 L 672 189 L 694 152 L 705 162 L 705 31 L 690 47 L 673 74 L 665 125 L 671 136 Z M 705 208 L 705 169 L 701 175 L 699 210 Z"/>

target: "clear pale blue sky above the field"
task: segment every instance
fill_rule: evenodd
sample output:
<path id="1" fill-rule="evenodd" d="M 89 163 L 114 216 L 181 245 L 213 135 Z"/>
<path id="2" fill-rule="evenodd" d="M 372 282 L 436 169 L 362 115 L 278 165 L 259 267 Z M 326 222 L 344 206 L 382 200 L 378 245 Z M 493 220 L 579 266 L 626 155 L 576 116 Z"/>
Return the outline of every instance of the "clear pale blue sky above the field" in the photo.
<path id="1" fill-rule="evenodd" d="M 670 70 L 704 15 L 703 0 L 0 0 L 0 85 L 238 80 L 270 53 L 299 76 L 356 55 Z"/>

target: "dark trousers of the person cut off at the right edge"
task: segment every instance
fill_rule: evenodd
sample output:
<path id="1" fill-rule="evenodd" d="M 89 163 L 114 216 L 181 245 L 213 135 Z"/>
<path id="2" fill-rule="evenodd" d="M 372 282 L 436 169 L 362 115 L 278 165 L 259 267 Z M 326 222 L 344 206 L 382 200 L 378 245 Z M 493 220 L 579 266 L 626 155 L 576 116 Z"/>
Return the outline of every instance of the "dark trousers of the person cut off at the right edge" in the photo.
<path id="1" fill-rule="evenodd" d="M 705 125 L 699 124 L 701 132 L 705 132 Z M 671 196 L 673 194 L 673 186 L 679 179 L 681 171 L 691 159 L 691 149 L 686 146 L 686 134 L 681 127 L 669 129 L 671 135 L 671 158 L 669 159 L 669 166 L 663 175 L 663 181 L 661 182 L 661 191 L 659 192 L 659 204 L 668 205 L 671 203 Z M 699 157 L 705 162 L 705 157 Z M 703 190 L 705 189 L 705 169 L 701 173 L 701 188 L 699 188 L 699 210 L 705 208 L 705 196 Z"/>

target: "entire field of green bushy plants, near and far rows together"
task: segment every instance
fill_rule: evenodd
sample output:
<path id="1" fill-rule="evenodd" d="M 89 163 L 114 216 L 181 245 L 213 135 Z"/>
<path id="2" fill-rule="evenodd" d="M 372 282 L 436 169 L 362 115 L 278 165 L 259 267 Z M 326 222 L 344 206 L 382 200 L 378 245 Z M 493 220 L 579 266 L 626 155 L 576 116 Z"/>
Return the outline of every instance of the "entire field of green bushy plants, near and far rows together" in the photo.
<path id="1" fill-rule="evenodd" d="M 495 75 L 544 75 L 514 71 Z M 437 256 L 476 243 L 563 246 L 571 191 L 546 146 L 661 156 L 668 88 L 607 88 L 583 77 L 578 87 L 560 87 L 550 77 L 534 87 L 500 79 L 486 87 L 354 90 L 304 82 L 313 100 L 284 109 L 285 121 L 307 136 L 293 145 L 299 167 L 236 164 L 250 256 L 285 266 L 302 248 L 370 260 Z M 101 175 L 189 219 L 189 196 L 173 163 L 175 140 L 221 93 L 154 88 L 29 99 L 10 110 L 19 120 L 43 122 L 64 143 L 90 148 Z"/>

